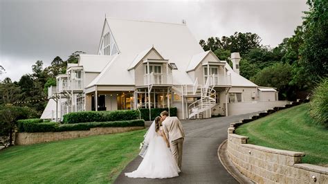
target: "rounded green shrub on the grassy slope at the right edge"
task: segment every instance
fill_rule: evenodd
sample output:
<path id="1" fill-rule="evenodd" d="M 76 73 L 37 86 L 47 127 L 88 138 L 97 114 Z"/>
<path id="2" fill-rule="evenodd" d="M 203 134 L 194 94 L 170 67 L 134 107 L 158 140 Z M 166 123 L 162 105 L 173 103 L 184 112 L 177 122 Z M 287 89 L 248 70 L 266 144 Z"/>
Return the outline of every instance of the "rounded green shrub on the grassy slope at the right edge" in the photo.
<path id="1" fill-rule="evenodd" d="M 314 89 L 309 112 L 316 122 L 328 127 L 328 77 Z"/>

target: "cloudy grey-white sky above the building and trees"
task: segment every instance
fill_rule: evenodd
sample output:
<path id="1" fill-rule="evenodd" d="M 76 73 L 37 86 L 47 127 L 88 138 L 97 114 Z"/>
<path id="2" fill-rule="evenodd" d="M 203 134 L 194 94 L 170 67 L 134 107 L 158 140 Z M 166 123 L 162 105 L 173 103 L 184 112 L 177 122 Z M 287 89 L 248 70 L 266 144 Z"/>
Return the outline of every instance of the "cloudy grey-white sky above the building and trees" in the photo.
<path id="1" fill-rule="evenodd" d="M 19 80 L 42 60 L 66 60 L 75 50 L 96 54 L 104 16 L 181 23 L 197 40 L 257 33 L 277 46 L 302 23 L 306 0 L 32 1 L 0 0 L 0 76 Z"/>

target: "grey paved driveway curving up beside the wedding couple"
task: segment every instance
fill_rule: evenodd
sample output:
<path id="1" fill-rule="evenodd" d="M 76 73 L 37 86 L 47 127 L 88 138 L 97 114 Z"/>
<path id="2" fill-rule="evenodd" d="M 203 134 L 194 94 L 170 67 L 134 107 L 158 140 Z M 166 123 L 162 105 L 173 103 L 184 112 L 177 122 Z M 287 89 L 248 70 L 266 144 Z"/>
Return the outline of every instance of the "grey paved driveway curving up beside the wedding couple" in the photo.
<path id="1" fill-rule="evenodd" d="M 185 130 L 181 174 L 176 178 L 128 178 L 125 172 L 138 168 L 142 158 L 132 160 L 115 183 L 238 183 L 217 157 L 217 149 L 226 140 L 230 122 L 248 118 L 257 113 L 204 120 L 181 120 Z"/>

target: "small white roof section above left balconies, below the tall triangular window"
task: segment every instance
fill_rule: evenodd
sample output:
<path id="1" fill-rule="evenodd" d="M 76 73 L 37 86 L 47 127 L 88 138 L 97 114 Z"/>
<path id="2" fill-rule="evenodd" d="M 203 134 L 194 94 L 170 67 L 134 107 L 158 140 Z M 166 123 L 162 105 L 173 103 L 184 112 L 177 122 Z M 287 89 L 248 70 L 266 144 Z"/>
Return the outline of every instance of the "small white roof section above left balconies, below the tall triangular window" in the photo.
<path id="1" fill-rule="evenodd" d="M 83 66 L 83 70 L 86 72 L 100 73 L 104 66 L 113 59 L 113 55 L 80 55 L 78 62 L 79 66 Z"/>

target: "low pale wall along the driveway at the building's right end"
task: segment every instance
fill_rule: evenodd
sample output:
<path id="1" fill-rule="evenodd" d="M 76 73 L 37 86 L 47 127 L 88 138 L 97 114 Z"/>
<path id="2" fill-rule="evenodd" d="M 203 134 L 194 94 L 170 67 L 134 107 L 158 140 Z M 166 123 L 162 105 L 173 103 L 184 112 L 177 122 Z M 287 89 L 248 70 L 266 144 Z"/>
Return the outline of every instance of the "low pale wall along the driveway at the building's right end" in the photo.
<path id="1" fill-rule="evenodd" d="M 284 107 L 286 104 L 289 104 L 289 101 L 229 103 L 228 116 L 264 111 L 273 109 L 273 107 Z"/>

